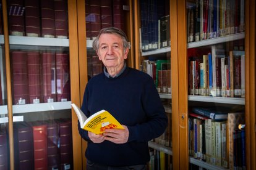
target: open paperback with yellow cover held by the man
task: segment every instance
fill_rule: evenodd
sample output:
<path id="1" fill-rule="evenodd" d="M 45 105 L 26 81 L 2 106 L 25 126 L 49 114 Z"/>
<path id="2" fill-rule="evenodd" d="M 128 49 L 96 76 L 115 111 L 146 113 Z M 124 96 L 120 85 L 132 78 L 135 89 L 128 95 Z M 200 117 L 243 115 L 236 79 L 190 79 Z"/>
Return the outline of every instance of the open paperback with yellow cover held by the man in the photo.
<path id="1" fill-rule="evenodd" d="M 122 125 L 106 110 L 101 110 L 87 118 L 74 103 L 71 104 L 79 119 L 80 127 L 95 134 L 102 134 L 105 129 L 124 129 Z"/>

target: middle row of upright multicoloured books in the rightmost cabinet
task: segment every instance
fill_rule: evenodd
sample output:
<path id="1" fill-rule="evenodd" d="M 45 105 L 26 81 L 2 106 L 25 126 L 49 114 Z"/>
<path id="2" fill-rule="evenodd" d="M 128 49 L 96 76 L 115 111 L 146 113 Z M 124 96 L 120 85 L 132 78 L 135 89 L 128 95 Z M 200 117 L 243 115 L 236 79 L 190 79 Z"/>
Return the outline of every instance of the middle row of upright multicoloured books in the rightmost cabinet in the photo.
<path id="1" fill-rule="evenodd" d="M 190 95 L 213 97 L 245 97 L 244 51 L 216 50 L 202 57 L 190 57 Z"/>

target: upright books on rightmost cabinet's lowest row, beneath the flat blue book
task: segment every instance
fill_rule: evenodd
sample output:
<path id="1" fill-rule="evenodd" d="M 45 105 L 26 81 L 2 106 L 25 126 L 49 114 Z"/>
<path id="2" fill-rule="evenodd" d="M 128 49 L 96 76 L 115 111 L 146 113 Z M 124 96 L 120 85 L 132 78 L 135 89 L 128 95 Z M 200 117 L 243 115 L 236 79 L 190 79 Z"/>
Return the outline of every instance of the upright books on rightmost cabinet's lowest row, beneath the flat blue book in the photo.
<path id="1" fill-rule="evenodd" d="M 189 113 L 189 155 L 214 166 L 245 168 L 244 113 L 227 113 L 227 119 L 216 121 Z"/>

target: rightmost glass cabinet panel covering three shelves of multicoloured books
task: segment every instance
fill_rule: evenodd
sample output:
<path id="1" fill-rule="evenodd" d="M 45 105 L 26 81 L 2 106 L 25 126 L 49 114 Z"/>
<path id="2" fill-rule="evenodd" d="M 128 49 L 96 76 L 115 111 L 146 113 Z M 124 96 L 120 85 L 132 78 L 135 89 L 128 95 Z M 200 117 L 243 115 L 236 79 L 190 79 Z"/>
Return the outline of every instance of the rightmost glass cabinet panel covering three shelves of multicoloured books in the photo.
<path id="1" fill-rule="evenodd" d="M 244 35 L 244 1 L 187 1 L 192 169 L 245 168 Z"/>

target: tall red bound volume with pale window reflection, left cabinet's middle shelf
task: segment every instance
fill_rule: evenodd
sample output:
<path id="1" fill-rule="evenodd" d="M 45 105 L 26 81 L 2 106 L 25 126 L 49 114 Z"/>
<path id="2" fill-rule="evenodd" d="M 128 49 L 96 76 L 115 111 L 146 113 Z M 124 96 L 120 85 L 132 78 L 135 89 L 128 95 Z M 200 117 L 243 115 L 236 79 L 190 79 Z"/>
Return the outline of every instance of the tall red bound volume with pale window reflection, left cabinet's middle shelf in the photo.
<path id="1" fill-rule="evenodd" d="M 46 53 L 42 54 L 43 66 L 43 101 L 56 102 L 56 67 L 55 67 L 55 54 Z"/>

